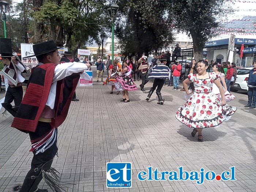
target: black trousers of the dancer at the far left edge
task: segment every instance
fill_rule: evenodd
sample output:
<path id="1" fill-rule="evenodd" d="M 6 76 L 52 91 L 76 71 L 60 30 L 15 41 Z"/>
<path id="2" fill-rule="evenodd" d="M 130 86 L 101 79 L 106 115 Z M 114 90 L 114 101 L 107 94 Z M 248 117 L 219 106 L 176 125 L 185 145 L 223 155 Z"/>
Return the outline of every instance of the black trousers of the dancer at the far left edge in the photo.
<path id="1" fill-rule="evenodd" d="M 19 87 L 8 87 L 4 102 L 11 103 L 14 101 L 15 106 L 19 106 L 23 97 L 22 86 Z"/>

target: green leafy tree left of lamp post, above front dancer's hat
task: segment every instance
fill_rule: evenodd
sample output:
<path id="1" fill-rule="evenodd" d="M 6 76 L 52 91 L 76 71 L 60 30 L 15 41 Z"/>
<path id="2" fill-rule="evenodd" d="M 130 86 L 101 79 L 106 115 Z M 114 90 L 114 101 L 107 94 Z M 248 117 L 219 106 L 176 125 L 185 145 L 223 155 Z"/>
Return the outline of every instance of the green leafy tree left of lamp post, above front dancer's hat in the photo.
<path id="1" fill-rule="evenodd" d="M 99 38 L 100 23 L 106 22 L 102 11 L 104 3 L 104 0 L 44 1 L 34 13 L 34 20 L 44 26 L 39 34 L 53 39 L 57 46 L 66 43 L 74 55 L 87 41 Z"/>

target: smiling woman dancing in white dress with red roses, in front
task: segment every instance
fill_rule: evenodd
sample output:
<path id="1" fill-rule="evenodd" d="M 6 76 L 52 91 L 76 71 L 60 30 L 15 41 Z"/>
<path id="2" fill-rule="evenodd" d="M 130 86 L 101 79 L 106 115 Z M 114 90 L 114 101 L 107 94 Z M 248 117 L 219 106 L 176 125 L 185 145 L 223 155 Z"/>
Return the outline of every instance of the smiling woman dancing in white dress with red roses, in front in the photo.
<path id="1" fill-rule="evenodd" d="M 192 82 L 194 84 L 194 93 L 178 109 L 176 114 L 177 120 L 190 128 L 194 128 L 191 133 L 193 137 L 198 132 L 197 139 L 199 142 L 203 142 L 203 128 L 216 127 L 223 121 L 229 120 L 237 109 L 226 105 L 224 90 L 219 82 L 218 75 L 206 72 L 207 67 L 208 63 L 206 61 L 198 61 L 196 67 L 198 74 L 193 75 L 191 73 L 183 81 L 187 94 L 191 94 L 191 91 L 188 90 L 188 83 Z M 212 84 L 214 83 L 221 93 L 222 101 L 212 93 Z"/>

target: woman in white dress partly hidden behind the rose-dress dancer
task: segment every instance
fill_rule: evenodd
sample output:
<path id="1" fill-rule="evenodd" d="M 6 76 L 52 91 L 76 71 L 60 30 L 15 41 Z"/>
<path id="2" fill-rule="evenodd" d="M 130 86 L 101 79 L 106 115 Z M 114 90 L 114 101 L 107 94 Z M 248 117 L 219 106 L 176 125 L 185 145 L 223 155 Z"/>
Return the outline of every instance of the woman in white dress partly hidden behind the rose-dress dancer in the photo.
<path id="1" fill-rule="evenodd" d="M 218 79 L 223 85 L 222 87 L 224 89 L 226 102 L 229 102 L 235 99 L 236 97 L 233 94 L 229 93 L 229 91 L 227 91 L 227 85 L 225 83 L 225 74 L 224 74 L 223 68 L 221 67 L 221 64 L 218 64 L 217 62 L 214 63 L 214 65 L 212 66 L 212 72 L 215 72 L 215 74 L 218 75 Z M 219 88 L 215 83 L 212 85 L 212 93 L 217 95 L 219 99 L 222 99 L 221 93 L 219 92 Z"/>

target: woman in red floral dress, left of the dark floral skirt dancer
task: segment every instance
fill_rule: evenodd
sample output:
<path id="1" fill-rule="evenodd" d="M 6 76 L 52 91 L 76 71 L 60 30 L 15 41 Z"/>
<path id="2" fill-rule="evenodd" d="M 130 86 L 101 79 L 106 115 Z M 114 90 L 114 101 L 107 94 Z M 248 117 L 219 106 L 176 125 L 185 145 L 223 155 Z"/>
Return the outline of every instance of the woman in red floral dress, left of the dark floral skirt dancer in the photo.
<path id="1" fill-rule="evenodd" d="M 117 73 L 117 63 L 118 60 L 115 59 L 113 61 L 112 65 L 109 65 L 109 76 L 107 77 L 107 79 L 103 82 L 103 85 L 111 85 L 111 92 L 110 94 L 113 94 L 113 90 L 115 88 L 115 82 L 117 82 L 117 78 L 119 77 L 118 73 Z M 120 93 L 120 91 L 117 91 L 117 95 Z"/>

